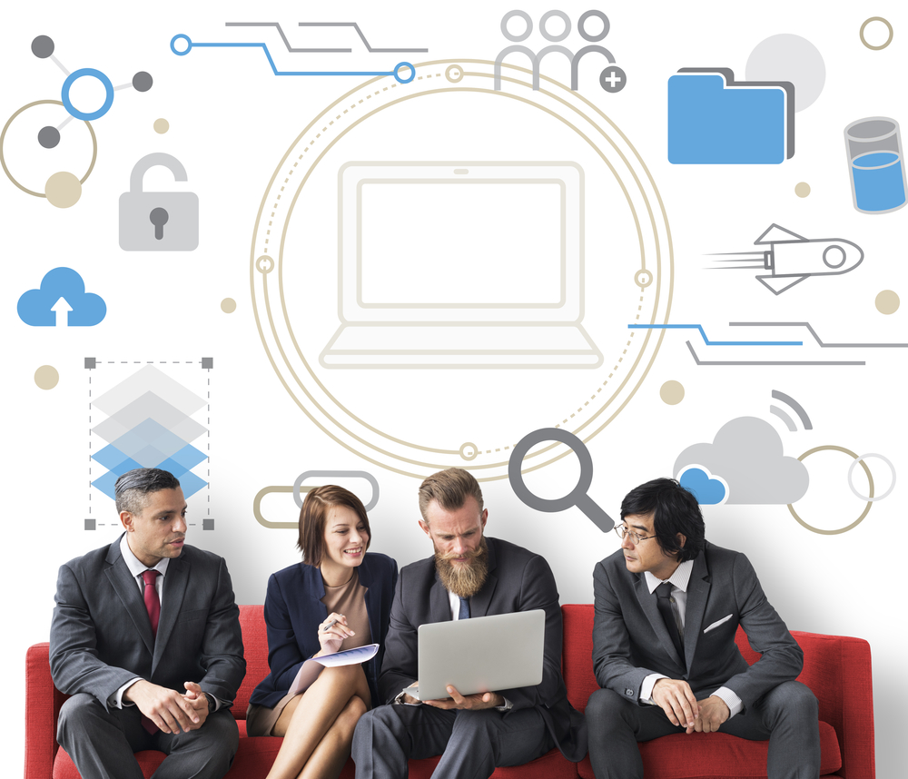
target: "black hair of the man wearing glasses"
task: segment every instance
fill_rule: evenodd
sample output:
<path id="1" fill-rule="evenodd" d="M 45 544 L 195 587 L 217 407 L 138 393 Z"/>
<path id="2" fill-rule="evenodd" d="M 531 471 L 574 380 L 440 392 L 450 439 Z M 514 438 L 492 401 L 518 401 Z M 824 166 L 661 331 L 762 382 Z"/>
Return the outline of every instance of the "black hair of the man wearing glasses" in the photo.
<path id="1" fill-rule="evenodd" d="M 633 488 L 621 501 L 621 519 L 627 514 L 652 514 L 656 542 L 679 563 L 693 560 L 706 544 L 706 526 L 696 498 L 674 478 L 654 478 Z M 683 547 L 678 546 L 679 533 L 685 537 Z"/>

